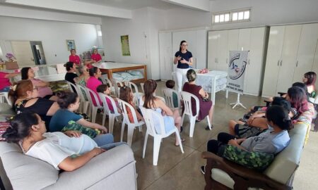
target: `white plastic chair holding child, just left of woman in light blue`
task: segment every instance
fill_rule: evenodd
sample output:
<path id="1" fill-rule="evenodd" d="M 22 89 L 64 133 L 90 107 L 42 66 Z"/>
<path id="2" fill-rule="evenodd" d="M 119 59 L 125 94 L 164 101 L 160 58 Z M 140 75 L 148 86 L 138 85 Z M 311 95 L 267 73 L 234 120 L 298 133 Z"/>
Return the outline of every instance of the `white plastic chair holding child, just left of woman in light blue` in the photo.
<path id="1" fill-rule="evenodd" d="M 131 106 L 129 103 L 127 103 L 126 101 L 122 101 L 120 99 L 118 99 L 118 103 L 119 103 L 119 107 L 122 110 L 122 115 L 124 117 L 122 120 L 122 134 L 120 135 L 120 141 L 122 141 L 122 138 L 124 136 L 125 125 L 127 125 L 128 126 L 127 144 L 129 144 L 129 146 L 131 146 L 131 141 L 132 141 L 135 127 L 139 127 L 139 132 L 142 132 L 142 130 L 143 130 L 142 125 L 144 125 L 145 122 L 138 121 L 136 111 L 133 108 L 133 106 Z M 129 117 L 128 117 L 128 113 L 127 113 L 127 108 L 129 108 L 131 110 L 132 116 L 134 118 L 134 122 L 130 122 Z"/>

